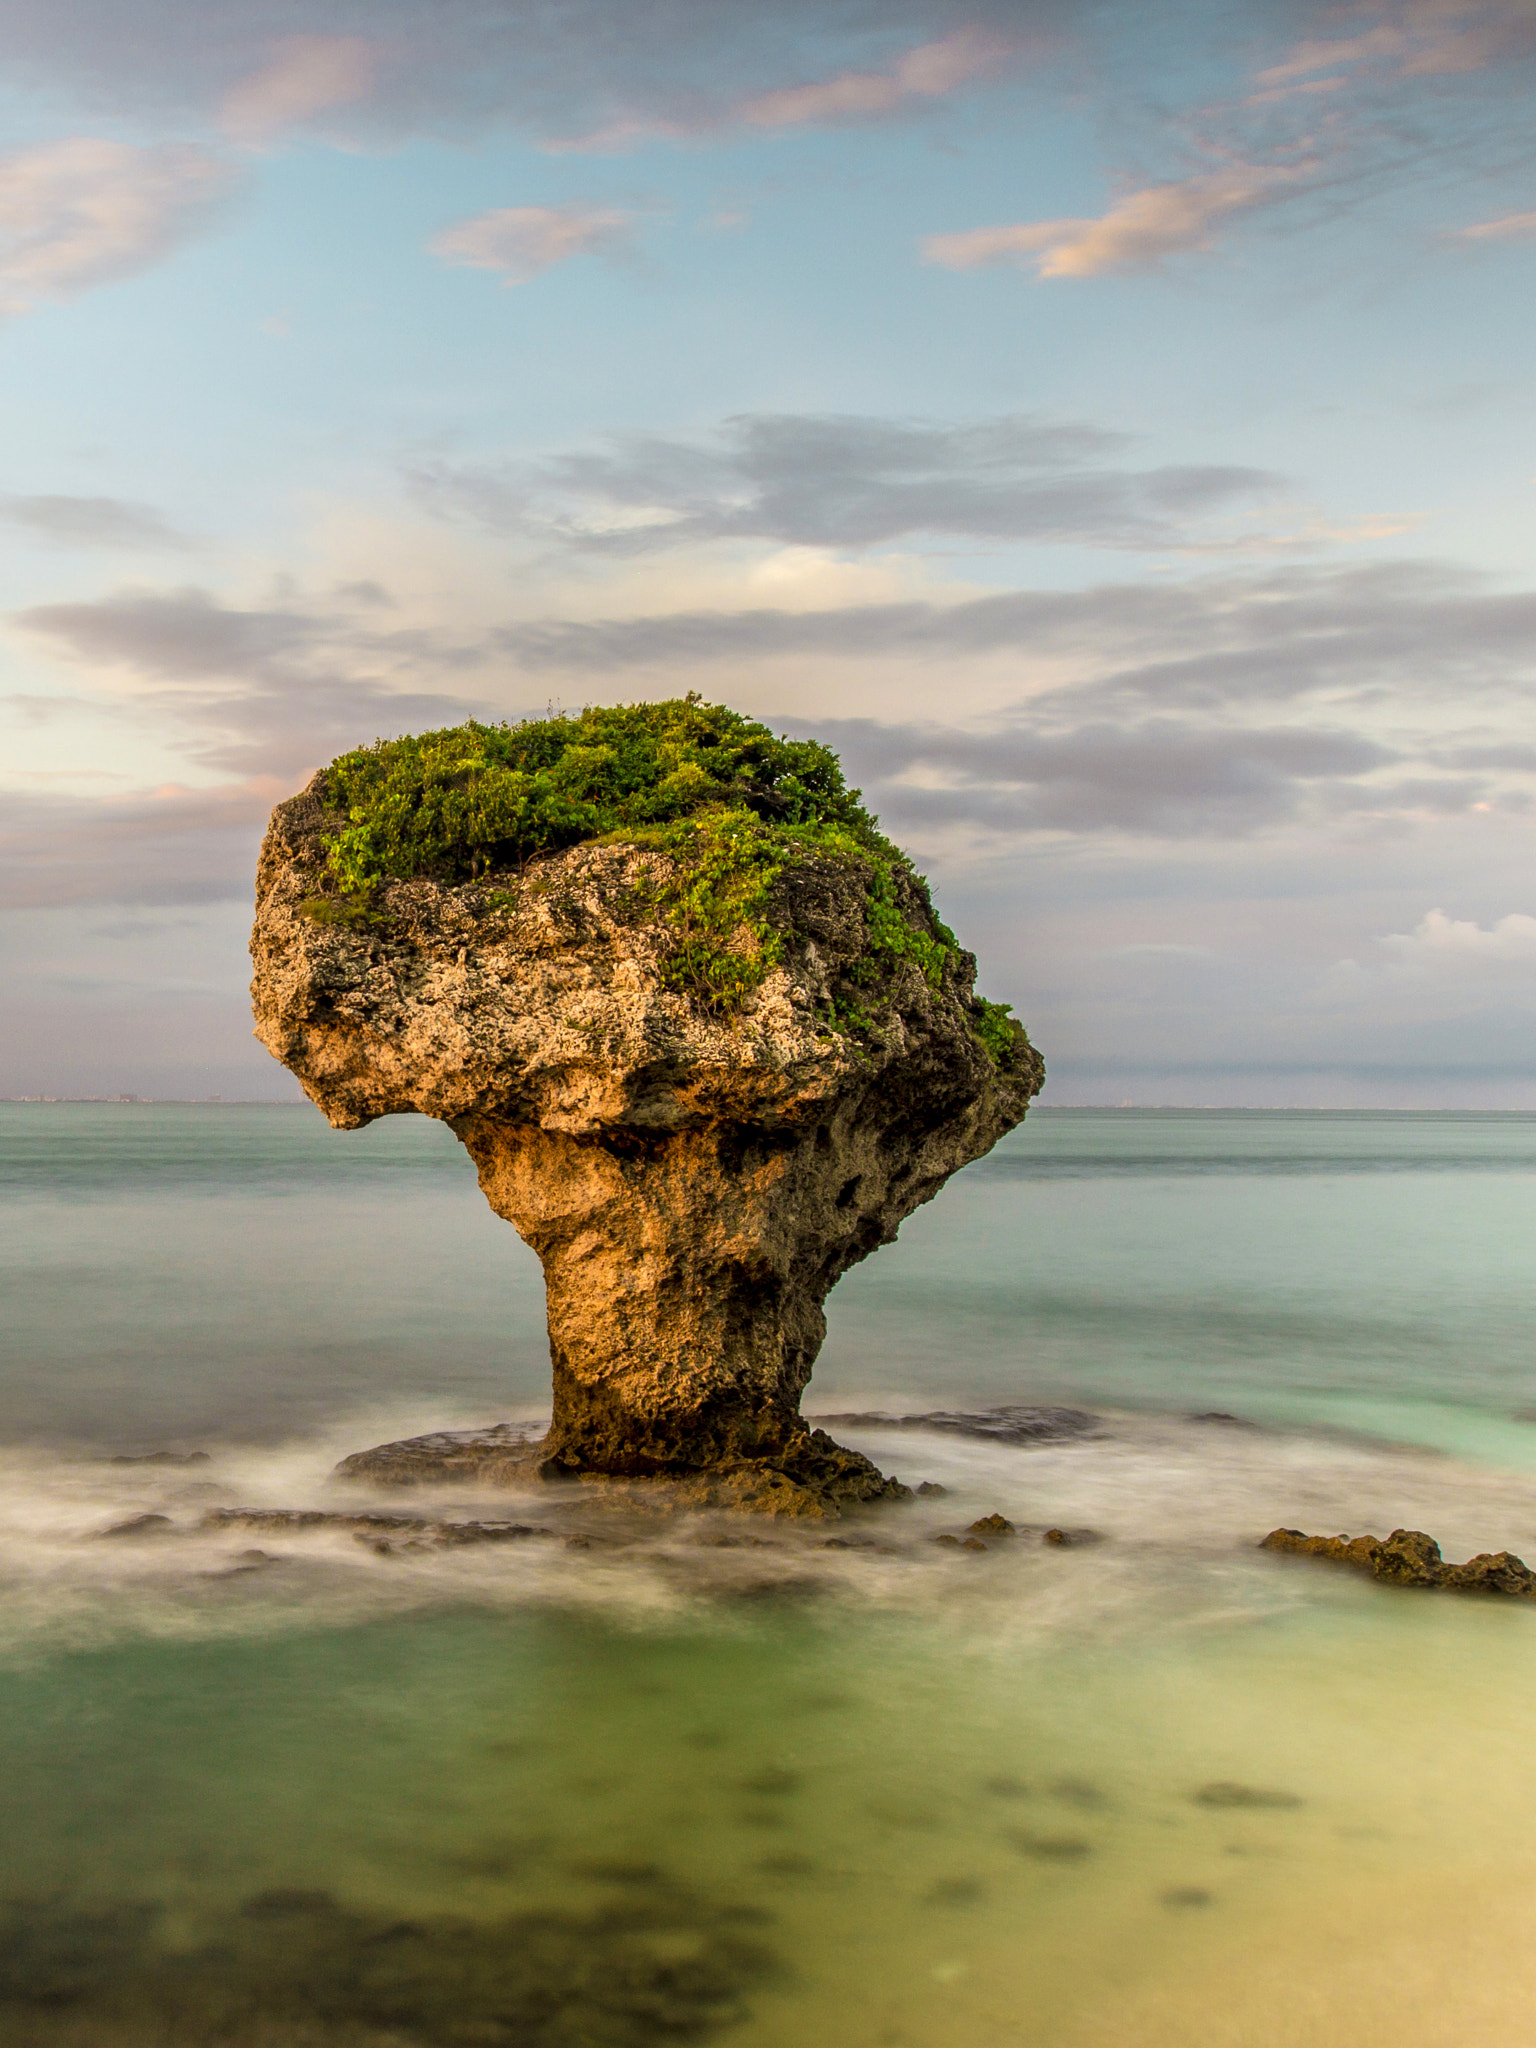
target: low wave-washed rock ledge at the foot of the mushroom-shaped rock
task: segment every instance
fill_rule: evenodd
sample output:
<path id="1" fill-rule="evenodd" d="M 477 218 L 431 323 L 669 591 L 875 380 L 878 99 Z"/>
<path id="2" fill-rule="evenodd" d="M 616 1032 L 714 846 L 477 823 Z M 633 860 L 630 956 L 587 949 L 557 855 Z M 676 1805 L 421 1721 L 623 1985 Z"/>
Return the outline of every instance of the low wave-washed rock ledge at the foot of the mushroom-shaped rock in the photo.
<path id="1" fill-rule="evenodd" d="M 836 1444 L 825 1430 L 799 1432 L 776 1458 L 731 1458 L 702 1470 L 678 1466 L 633 1479 L 592 1473 L 551 1458 L 547 1438 L 530 1438 L 510 1423 L 494 1430 L 440 1430 L 397 1444 L 358 1450 L 336 1466 L 340 1479 L 377 1487 L 514 1487 L 532 1481 L 623 1489 L 655 1505 L 729 1507 L 745 1513 L 831 1522 L 844 1507 L 907 1499 L 909 1487 L 887 1479 L 856 1450 Z"/>

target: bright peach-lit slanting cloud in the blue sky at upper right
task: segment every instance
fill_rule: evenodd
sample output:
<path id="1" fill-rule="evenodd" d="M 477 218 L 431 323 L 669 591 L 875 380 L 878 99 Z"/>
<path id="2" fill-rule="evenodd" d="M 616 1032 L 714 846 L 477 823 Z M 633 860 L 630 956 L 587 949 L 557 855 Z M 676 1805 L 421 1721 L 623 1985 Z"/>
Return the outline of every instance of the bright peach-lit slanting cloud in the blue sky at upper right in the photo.
<path id="1" fill-rule="evenodd" d="M 1128 193 L 1098 219 L 1020 221 L 928 236 L 924 258 L 948 270 L 1032 256 L 1036 276 L 1104 276 L 1145 270 L 1186 250 L 1208 250 L 1217 223 L 1274 205 L 1307 176 L 1300 166 L 1247 166 L 1206 172 L 1178 184 Z"/>

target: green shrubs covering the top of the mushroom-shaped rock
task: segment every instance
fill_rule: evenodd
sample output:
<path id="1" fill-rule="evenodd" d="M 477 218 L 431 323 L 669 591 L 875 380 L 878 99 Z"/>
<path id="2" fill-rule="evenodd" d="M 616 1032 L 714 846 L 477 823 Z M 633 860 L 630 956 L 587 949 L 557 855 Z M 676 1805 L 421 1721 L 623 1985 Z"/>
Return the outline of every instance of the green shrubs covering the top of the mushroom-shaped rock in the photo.
<path id="1" fill-rule="evenodd" d="M 696 694 L 379 739 L 334 760 L 324 791 L 346 823 L 328 858 L 334 893 L 307 905 L 315 922 L 371 922 L 389 881 L 473 881 L 598 840 L 672 856 L 653 905 L 674 934 L 666 977 L 721 1016 L 780 961 L 774 885 L 805 860 L 864 870 L 868 954 L 856 979 L 870 993 L 897 961 L 940 989 L 956 944 L 932 913 L 913 918 L 901 883 L 922 891 L 922 877 L 829 748 L 778 739 Z M 831 1022 L 862 1032 L 872 1020 L 850 997 Z M 981 1001 L 975 1028 L 993 1063 L 1012 1067 L 1020 1030 L 1008 1006 Z"/>

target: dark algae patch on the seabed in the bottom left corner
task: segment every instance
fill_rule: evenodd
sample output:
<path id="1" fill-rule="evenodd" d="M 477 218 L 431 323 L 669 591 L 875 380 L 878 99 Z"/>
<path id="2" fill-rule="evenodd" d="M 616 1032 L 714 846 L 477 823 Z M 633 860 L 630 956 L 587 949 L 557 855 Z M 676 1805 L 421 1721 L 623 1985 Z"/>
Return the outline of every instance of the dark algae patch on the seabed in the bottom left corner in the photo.
<path id="1" fill-rule="evenodd" d="M 268 1890 L 190 1946 L 152 1905 L 0 1911 L 6 2048 L 651 2048 L 741 2019 L 762 1913 L 666 1880 L 588 1913 L 399 1919 Z"/>

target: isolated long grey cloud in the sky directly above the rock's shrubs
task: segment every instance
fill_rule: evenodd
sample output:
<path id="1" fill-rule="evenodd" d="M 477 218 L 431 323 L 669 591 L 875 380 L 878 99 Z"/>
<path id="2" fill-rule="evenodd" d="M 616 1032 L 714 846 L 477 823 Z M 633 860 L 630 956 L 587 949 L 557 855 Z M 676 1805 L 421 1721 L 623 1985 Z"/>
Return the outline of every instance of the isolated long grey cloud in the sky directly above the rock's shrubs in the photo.
<path id="1" fill-rule="evenodd" d="M 877 547 L 909 535 L 1169 547 L 1278 477 L 1241 467 L 1110 467 L 1100 428 L 748 414 L 715 436 L 659 434 L 545 463 L 428 463 L 434 512 L 608 553 L 709 541 Z"/>

